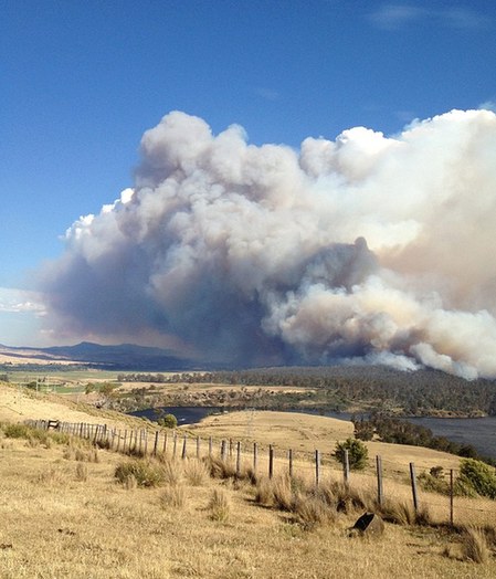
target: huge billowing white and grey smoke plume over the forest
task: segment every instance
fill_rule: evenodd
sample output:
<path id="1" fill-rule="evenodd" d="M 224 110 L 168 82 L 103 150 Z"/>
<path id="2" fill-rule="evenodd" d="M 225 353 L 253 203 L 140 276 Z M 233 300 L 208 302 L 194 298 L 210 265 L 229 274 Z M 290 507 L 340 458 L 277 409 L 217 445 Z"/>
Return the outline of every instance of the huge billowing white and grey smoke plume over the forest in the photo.
<path id="1" fill-rule="evenodd" d="M 127 189 L 42 275 L 53 327 L 199 359 L 337 357 L 496 376 L 496 115 L 300 150 L 173 112 Z"/>

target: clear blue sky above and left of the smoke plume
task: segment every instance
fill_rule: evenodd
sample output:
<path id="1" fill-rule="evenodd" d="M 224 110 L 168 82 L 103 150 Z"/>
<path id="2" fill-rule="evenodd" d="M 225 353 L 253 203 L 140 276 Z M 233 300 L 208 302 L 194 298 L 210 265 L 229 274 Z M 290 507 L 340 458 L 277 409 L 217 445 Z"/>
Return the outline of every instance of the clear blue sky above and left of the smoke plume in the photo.
<path id="1" fill-rule="evenodd" d="M 298 148 L 496 101 L 496 3 L 0 0 L 0 343 L 39 345 L 33 271 L 133 185 L 171 110 Z"/>

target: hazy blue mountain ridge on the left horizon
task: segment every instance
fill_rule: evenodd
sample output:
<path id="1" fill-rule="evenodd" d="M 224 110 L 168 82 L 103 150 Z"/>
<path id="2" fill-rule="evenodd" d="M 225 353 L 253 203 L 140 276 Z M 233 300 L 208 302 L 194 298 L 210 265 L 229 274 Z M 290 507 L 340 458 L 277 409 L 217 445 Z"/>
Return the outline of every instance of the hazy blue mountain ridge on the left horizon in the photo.
<path id="1" fill-rule="evenodd" d="M 104 346 L 91 341 L 82 341 L 74 346 L 52 346 L 49 348 L 9 347 L 0 345 L 0 355 L 14 357 L 22 364 L 23 359 L 50 360 L 53 364 L 67 360 L 112 369 L 134 370 L 190 370 L 196 366 L 192 360 L 179 358 L 169 350 L 119 344 Z M 1 364 L 1 361 L 0 361 Z M 28 364 L 28 362 L 27 362 Z M 32 364 L 31 361 L 29 364 Z"/>

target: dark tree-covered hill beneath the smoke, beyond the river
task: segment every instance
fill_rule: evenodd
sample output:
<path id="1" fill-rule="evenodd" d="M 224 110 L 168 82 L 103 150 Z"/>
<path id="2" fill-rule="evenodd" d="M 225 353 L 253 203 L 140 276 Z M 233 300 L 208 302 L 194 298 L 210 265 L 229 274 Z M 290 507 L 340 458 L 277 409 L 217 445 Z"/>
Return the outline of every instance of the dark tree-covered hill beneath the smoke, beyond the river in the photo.
<path id="1" fill-rule="evenodd" d="M 145 375 L 123 377 L 146 380 Z M 178 373 L 151 381 L 294 386 L 316 390 L 309 406 L 363 408 L 405 415 L 496 415 L 496 380 L 464 380 L 436 370 L 400 371 L 386 366 L 284 367 Z"/>

